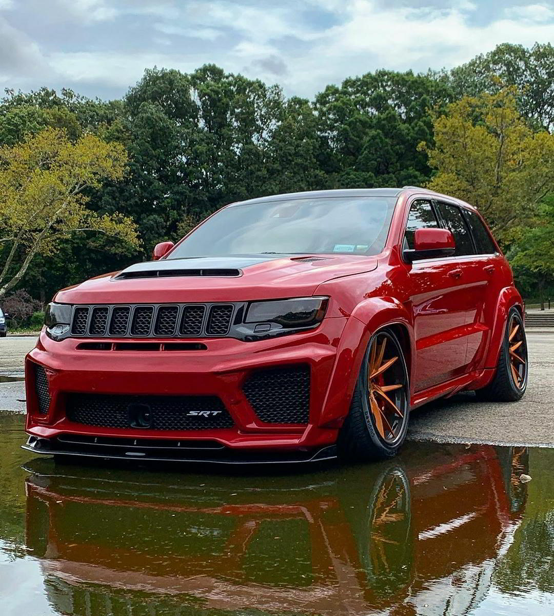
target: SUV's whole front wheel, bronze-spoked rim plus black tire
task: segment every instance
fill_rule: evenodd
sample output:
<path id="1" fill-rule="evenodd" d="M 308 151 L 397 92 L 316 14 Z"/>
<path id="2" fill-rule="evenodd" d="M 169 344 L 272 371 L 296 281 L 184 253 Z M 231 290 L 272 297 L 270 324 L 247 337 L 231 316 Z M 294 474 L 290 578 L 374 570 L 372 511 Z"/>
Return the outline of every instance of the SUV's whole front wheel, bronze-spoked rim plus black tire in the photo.
<path id="1" fill-rule="evenodd" d="M 391 458 L 406 438 L 409 383 L 402 348 L 390 330 L 373 334 L 359 371 L 350 411 L 337 440 L 339 456 Z"/>

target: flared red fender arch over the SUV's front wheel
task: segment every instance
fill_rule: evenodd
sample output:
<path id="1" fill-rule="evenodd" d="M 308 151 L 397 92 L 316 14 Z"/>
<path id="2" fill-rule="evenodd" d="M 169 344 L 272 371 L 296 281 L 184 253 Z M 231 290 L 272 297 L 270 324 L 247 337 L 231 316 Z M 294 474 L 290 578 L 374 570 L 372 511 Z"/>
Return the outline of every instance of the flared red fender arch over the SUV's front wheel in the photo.
<path id="1" fill-rule="evenodd" d="M 369 298 L 352 311 L 340 337 L 337 359 L 319 416 L 319 427 L 337 428 L 348 415 L 361 363 L 371 335 L 385 325 L 401 325 L 407 333 L 410 382 L 415 371 L 414 328 L 406 308 L 395 298 Z"/>

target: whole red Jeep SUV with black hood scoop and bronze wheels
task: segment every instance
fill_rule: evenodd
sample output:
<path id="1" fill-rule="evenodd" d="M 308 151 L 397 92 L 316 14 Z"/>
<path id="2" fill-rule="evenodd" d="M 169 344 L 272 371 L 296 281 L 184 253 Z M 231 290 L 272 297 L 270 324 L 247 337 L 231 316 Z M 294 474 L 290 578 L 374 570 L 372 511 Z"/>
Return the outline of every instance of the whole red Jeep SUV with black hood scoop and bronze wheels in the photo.
<path id="1" fill-rule="evenodd" d="M 409 412 L 518 400 L 523 302 L 472 206 L 422 188 L 233 203 L 57 293 L 24 447 L 219 462 L 387 458 Z"/>

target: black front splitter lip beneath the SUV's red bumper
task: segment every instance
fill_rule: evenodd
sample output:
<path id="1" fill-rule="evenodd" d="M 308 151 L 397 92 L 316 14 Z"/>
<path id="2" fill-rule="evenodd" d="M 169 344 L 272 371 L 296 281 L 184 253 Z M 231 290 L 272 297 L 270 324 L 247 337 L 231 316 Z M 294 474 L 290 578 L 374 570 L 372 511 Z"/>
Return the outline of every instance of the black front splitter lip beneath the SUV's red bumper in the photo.
<path id="1" fill-rule="evenodd" d="M 227 447 L 182 448 L 140 447 L 140 445 L 74 444 L 57 439 L 29 437 L 22 448 L 41 455 L 75 456 L 97 460 L 135 460 L 151 462 L 181 462 L 202 464 L 305 464 L 337 458 L 337 447 L 329 445 L 318 450 L 293 452 L 235 452 Z"/>

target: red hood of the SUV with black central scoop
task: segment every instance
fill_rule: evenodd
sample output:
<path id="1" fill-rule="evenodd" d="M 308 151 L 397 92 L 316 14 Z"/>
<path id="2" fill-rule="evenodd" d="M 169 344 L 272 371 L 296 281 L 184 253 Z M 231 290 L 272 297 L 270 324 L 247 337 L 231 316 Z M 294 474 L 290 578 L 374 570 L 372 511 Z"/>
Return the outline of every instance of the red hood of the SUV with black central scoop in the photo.
<path id="1" fill-rule="evenodd" d="M 225 302 L 311 296 L 333 278 L 370 272 L 377 258 L 345 254 L 162 259 L 60 291 L 67 304 Z"/>

